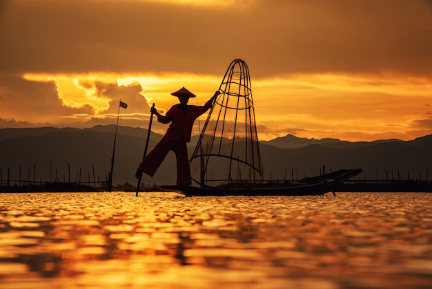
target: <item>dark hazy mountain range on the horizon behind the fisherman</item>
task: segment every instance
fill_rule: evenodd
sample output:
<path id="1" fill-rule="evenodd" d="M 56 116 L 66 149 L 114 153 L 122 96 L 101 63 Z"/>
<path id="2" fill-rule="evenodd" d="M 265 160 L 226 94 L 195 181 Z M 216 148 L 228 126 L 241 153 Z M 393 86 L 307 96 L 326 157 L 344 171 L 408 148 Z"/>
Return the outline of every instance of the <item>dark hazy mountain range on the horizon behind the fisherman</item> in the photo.
<path id="1" fill-rule="evenodd" d="M 105 180 L 110 171 L 115 126 L 90 129 L 52 127 L 0 129 L 1 180 L 81 181 Z M 118 127 L 113 185 L 136 183 L 135 170 L 142 159 L 147 130 Z M 150 133 L 149 149 L 161 135 Z M 190 142 L 190 153 L 197 142 Z M 362 168 L 357 178 L 432 179 L 432 135 L 415 140 L 377 140 L 347 142 L 333 138 L 322 140 L 292 135 L 260 142 L 265 179 L 304 178 L 337 169 Z M 175 156 L 169 153 L 153 178 L 144 175 L 144 183 L 175 184 Z M 36 169 L 35 169 L 36 168 Z M 79 172 L 81 171 L 81 176 Z"/>

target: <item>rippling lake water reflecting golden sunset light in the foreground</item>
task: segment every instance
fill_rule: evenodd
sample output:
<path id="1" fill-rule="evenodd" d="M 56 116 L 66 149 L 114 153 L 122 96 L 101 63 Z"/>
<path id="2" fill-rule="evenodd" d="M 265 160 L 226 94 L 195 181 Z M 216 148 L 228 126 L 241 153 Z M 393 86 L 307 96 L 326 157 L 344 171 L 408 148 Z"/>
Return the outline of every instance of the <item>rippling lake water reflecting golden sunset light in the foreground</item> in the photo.
<path id="1" fill-rule="evenodd" d="M 432 194 L 0 194 L 0 288 L 432 288 Z"/>

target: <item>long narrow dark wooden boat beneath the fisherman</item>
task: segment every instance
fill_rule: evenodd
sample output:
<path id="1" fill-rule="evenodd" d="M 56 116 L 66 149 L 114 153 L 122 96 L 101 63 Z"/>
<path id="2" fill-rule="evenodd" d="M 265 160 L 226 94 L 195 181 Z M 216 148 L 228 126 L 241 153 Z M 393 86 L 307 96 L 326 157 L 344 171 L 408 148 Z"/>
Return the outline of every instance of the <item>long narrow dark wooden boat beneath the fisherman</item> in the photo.
<path id="1" fill-rule="evenodd" d="M 323 176 L 304 178 L 298 182 L 268 183 L 263 185 L 226 185 L 220 187 L 161 186 L 168 191 L 186 196 L 314 196 L 334 192 L 333 185 L 344 183 L 360 174 L 362 169 L 340 169 Z"/>

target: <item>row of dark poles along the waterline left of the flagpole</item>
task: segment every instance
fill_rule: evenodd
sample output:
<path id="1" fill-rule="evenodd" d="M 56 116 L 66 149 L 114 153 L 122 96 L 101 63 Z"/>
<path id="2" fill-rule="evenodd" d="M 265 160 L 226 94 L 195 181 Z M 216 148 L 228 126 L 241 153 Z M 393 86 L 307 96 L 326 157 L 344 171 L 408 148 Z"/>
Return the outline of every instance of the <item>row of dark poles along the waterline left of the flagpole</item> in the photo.
<path id="1" fill-rule="evenodd" d="M 81 181 L 81 167 L 79 167 L 79 170 L 77 171 L 77 176 L 75 178 L 75 182 L 71 181 L 70 178 L 70 162 L 68 162 L 68 181 L 66 181 L 66 174 L 63 174 L 61 177 L 57 176 L 57 169 L 55 169 L 55 179 L 54 181 L 52 181 L 52 162 L 50 162 L 50 177 L 49 177 L 49 181 L 48 180 L 42 180 L 42 178 L 40 178 L 40 180 L 36 180 L 36 163 L 33 165 L 33 176 L 32 179 L 30 178 L 30 166 L 28 167 L 28 176 L 27 176 L 27 180 L 24 180 L 22 178 L 22 169 L 21 166 L 19 167 L 19 172 L 18 172 L 18 179 L 16 178 L 11 178 L 10 174 L 11 174 L 11 169 L 10 167 L 8 167 L 8 171 L 6 174 L 6 178 L 3 178 L 3 168 L 0 168 L 0 191 L 1 191 L 1 187 L 18 187 L 18 188 L 23 188 L 23 187 L 43 187 L 43 186 L 50 186 L 53 185 L 55 187 L 55 185 L 57 184 L 61 184 L 63 187 L 66 186 L 71 186 L 73 187 L 75 186 L 82 186 L 82 187 L 87 187 L 89 189 L 94 189 L 97 190 L 99 192 L 101 191 L 107 191 L 108 189 L 108 178 L 107 176 L 105 176 L 105 180 L 100 180 L 100 176 L 97 175 L 97 179 L 96 179 L 96 174 L 95 174 L 95 166 L 92 165 L 92 179 L 90 178 L 90 171 L 88 172 L 88 179 L 86 181 Z M 63 179 L 63 181 L 61 181 Z"/>

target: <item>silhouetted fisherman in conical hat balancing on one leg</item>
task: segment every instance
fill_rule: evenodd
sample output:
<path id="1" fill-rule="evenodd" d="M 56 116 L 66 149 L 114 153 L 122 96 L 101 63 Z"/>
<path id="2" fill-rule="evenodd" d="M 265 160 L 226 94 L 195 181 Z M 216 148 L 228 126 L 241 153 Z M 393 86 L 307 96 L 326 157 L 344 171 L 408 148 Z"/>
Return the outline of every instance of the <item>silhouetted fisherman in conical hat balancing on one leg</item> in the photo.
<path id="1" fill-rule="evenodd" d="M 204 106 L 188 105 L 189 98 L 195 97 L 195 94 L 182 87 L 178 91 L 171 93 L 171 95 L 179 98 L 180 103 L 171 106 L 165 115 L 161 115 L 153 107 L 150 111 L 157 115 L 158 122 L 164 124 L 171 122 L 171 124 L 165 136 L 139 164 L 135 176 L 140 178 L 141 172 L 148 174 L 148 176 L 154 176 L 166 158 L 168 151 L 174 151 L 177 160 L 177 186 L 191 185 L 192 178 L 190 176 L 186 142 L 190 142 L 193 122 L 195 122 L 199 115 L 210 109 L 219 94 L 220 92 L 216 91 Z"/>

